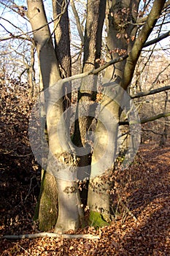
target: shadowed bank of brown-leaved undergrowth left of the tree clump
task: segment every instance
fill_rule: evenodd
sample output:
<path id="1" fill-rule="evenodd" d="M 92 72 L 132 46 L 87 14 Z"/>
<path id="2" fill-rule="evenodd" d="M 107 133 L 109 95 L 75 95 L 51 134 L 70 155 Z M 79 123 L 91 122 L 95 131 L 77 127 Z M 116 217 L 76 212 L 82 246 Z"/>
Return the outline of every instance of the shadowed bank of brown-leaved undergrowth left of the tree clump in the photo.
<path id="1" fill-rule="evenodd" d="M 18 81 L 1 83 L 0 230 L 28 228 L 39 192 L 40 170 L 28 140 L 28 118 L 33 100 Z M 28 225 L 28 227 L 27 227 Z"/>

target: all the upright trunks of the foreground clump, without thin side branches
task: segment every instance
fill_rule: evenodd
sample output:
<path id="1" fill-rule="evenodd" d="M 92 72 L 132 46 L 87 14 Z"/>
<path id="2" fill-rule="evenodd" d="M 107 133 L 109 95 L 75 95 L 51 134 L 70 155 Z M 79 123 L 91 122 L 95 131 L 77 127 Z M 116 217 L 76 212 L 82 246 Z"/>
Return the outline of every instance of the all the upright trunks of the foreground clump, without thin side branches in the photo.
<path id="1" fill-rule="evenodd" d="M 52 35 L 42 0 L 28 0 L 28 18 L 34 31 L 34 42 L 39 58 L 40 75 L 42 77 L 45 97 L 50 99 L 45 106 L 47 116 L 47 133 L 49 143 L 49 156 L 47 170 L 42 172 L 42 186 L 39 195 L 39 205 L 36 208 L 36 217 L 39 219 L 41 230 L 50 230 L 55 225 L 55 231 L 77 230 L 83 222 L 82 203 L 77 182 L 74 180 L 80 168 L 89 168 L 90 181 L 88 184 L 88 206 L 90 208 L 90 221 L 102 216 L 102 219 L 110 220 L 109 191 L 113 184 L 109 182 L 112 175 L 113 162 L 117 151 L 117 132 L 120 120 L 120 104 L 123 97 L 117 85 L 127 89 L 134 73 L 134 68 L 144 42 L 149 37 L 158 16 L 161 13 L 165 1 L 155 0 L 146 26 L 136 37 L 137 11 L 139 0 L 134 1 L 107 1 L 88 0 L 87 20 L 84 36 L 84 59 L 82 72 L 88 72 L 99 66 L 101 58 L 101 35 L 104 26 L 104 18 L 107 25 L 107 61 L 117 56 L 129 53 L 127 60 L 118 62 L 105 70 L 104 80 L 111 81 L 103 91 L 101 110 L 96 125 L 97 143 L 93 152 L 83 157 L 76 155 L 70 144 L 68 125 L 69 111 L 67 116 L 63 111 L 69 106 L 71 94 L 63 100 L 63 90 L 67 91 L 61 82 L 62 78 L 72 75 L 69 17 L 66 1 L 53 0 L 53 15 L 55 18 L 55 48 Z M 125 25 L 126 24 L 126 25 Z M 80 27 L 80 26 L 79 26 Z M 146 31 L 146 33 L 145 33 Z M 81 31 L 79 31 L 80 34 Z M 81 38 L 82 39 L 82 38 Z M 92 86 L 87 88 L 87 80 Z M 72 79 L 70 79 L 72 80 Z M 73 142 L 77 147 L 89 148 L 86 141 L 87 132 L 90 129 L 92 118 L 89 116 L 91 102 L 96 100 L 96 78 L 84 78 L 80 84 L 78 97 L 77 117 L 75 121 Z M 58 89 L 53 90 L 53 85 L 58 82 Z M 107 83 L 106 83 L 107 84 Z M 67 86 L 70 86 L 67 83 Z M 52 90 L 51 90 L 52 89 Z M 109 97 L 110 92 L 115 90 L 115 100 Z M 59 99 L 55 102 L 55 99 Z M 68 100 L 69 98 L 69 100 Z M 51 104 L 54 102 L 54 104 Z M 63 104 L 64 102 L 64 104 Z M 82 109 L 85 109 L 82 112 Z M 106 116 L 109 113 L 109 116 Z M 61 138 L 64 148 L 58 138 L 58 124 L 62 124 Z M 112 125 L 111 125 L 112 124 Z M 109 145 L 109 149 L 108 149 Z M 72 148 L 72 151 L 70 151 Z M 105 153 L 107 165 L 102 165 Z M 104 173 L 105 171 L 105 173 Z M 98 176 L 98 173 L 101 175 Z M 57 175 L 56 175 L 57 174 Z M 96 176 L 97 175 L 97 176 Z M 107 177 L 107 178 L 106 178 Z M 101 222 L 101 225 L 107 224 Z M 97 225 L 100 225 L 98 223 Z"/>

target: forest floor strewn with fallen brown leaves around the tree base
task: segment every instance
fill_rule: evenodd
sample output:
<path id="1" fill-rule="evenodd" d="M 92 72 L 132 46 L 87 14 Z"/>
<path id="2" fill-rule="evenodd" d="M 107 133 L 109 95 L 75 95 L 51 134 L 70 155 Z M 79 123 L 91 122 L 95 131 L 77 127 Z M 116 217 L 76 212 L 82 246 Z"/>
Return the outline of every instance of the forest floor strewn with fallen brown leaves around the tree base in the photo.
<path id="1" fill-rule="evenodd" d="M 13 159 L 13 161 L 15 161 Z M 134 164 L 118 173 L 120 200 L 109 227 L 85 227 L 100 239 L 34 238 L 7 240 L 4 235 L 37 233 L 32 221 L 39 193 L 36 171 L 9 168 L 0 173 L 0 255 L 170 255 L 170 141 L 166 146 L 142 144 Z M 23 159 L 24 161 L 24 159 Z M 22 162 L 18 165 L 22 165 Z M 11 166 L 11 165 L 10 165 Z M 24 173 L 25 172 L 25 173 Z M 53 230 L 51 230 L 53 231 Z"/>

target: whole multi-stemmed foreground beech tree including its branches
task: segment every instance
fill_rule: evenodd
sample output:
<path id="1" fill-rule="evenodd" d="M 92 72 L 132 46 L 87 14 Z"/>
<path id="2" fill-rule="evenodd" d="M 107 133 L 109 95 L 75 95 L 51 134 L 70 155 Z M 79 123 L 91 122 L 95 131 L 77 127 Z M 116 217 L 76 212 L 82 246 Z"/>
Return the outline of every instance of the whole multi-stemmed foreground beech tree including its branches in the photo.
<path id="1" fill-rule="evenodd" d="M 79 182 L 83 178 L 89 179 L 85 204 L 89 208 L 90 224 L 109 225 L 112 220 L 112 173 L 115 170 L 120 117 L 123 107 L 127 108 L 125 117 L 129 121 L 133 109 L 128 88 L 142 49 L 169 37 L 169 31 L 163 34 L 161 29 L 169 22 L 170 1 L 88 0 L 85 31 L 76 10 L 76 1 L 52 0 L 51 4 L 52 32 L 42 0 L 27 0 L 27 7 L 20 7 L 21 10 L 18 7 L 18 12 L 22 11 L 31 23 L 34 36 L 31 42 L 36 48 L 40 88 L 45 99 L 43 111 L 49 150 L 47 165 L 43 165 L 35 218 L 39 220 L 41 230 L 55 226 L 55 232 L 63 233 L 77 230 L 85 224 L 85 206 Z M 72 75 L 69 4 L 74 12 L 83 52 L 82 73 L 76 75 Z M 156 37 L 150 37 L 155 27 L 159 32 Z M 107 35 L 103 44 L 104 31 Z M 101 72 L 101 91 L 98 93 Z M 79 89 L 71 138 L 69 107 L 72 105 L 74 80 L 79 83 Z M 87 135 L 96 121 L 97 111 L 92 147 Z M 139 122 L 133 111 L 132 129 L 133 121 Z M 126 123 L 127 120 L 122 122 Z M 134 125 L 134 132 L 138 133 L 135 129 Z M 135 152 L 136 146 L 132 153 Z"/>

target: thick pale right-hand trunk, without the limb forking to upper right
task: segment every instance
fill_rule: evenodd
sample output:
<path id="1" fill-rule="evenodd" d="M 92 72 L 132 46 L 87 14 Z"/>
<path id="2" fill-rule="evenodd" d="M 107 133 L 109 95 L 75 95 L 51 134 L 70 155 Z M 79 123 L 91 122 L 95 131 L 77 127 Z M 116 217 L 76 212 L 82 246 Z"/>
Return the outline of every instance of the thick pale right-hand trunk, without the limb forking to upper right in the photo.
<path id="1" fill-rule="evenodd" d="M 136 1 L 137 2 L 137 1 Z M 132 1 L 108 1 L 107 2 L 107 61 L 125 55 L 131 49 L 133 42 L 127 39 L 131 34 L 136 33 L 134 26 L 123 26 L 131 19 L 128 8 L 132 10 Z M 137 6 L 136 6 L 137 8 Z M 122 10 L 125 10 L 123 13 Z M 134 11 L 132 14 L 134 15 Z M 120 119 L 120 102 L 123 97 L 123 89 L 119 85 L 123 78 L 123 71 L 126 61 L 120 61 L 107 67 L 104 79 L 107 80 L 106 89 L 103 91 L 101 99 L 101 111 L 98 116 L 96 127 L 96 148 L 94 148 L 91 165 L 91 176 L 88 190 L 88 206 L 90 211 L 98 212 L 107 222 L 110 218 L 110 195 L 114 184 L 109 182 L 117 152 L 118 123 Z M 109 82 L 110 85 L 109 85 Z M 118 95 L 115 99 L 109 99 L 108 95 L 112 91 Z M 101 121 L 100 121 L 101 120 Z M 108 148 L 109 146 L 109 148 Z M 112 180 L 112 178 L 111 178 Z M 93 216 L 93 214 L 92 214 Z M 90 222 L 93 222 L 93 218 Z M 100 224 L 98 224 L 100 225 Z M 101 225 L 107 223 L 101 222 Z"/>

